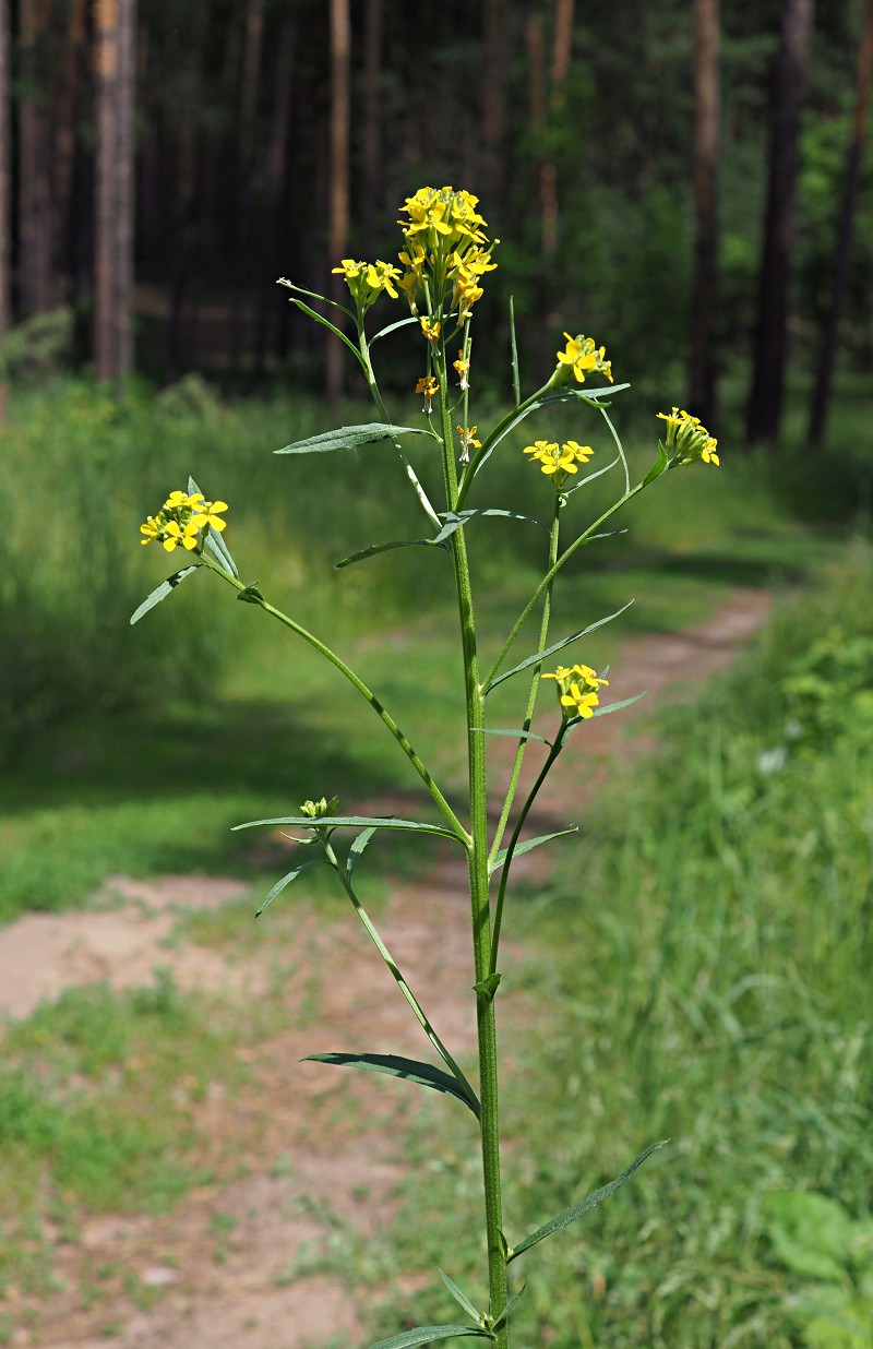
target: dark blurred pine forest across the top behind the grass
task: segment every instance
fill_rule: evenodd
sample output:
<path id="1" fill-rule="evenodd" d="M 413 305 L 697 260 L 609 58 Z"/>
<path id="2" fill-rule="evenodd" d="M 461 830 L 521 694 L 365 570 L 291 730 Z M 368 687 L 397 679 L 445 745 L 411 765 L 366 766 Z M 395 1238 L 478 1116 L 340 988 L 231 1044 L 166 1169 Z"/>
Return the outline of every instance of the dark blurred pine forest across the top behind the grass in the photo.
<path id="1" fill-rule="evenodd" d="M 503 240 L 495 378 L 511 294 L 532 378 L 582 329 L 768 441 L 791 368 L 815 444 L 873 367 L 872 66 L 873 0 L 0 0 L 4 371 L 336 397 L 277 278 L 331 293 L 452 182 Z"/>

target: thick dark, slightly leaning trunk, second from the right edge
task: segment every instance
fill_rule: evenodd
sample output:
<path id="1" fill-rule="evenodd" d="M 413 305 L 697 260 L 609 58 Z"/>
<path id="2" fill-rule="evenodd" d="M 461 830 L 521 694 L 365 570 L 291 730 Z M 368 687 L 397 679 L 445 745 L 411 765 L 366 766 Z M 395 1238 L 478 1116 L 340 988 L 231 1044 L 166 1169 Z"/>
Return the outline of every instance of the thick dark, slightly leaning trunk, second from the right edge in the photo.
<path id="1" fill-rule="evenodd" d="M 776 440 L 783 415 L 797 138 L 812 18 L 814 0 L 783 0 L 752 394 L 746 415 L 750 442 Z"/>

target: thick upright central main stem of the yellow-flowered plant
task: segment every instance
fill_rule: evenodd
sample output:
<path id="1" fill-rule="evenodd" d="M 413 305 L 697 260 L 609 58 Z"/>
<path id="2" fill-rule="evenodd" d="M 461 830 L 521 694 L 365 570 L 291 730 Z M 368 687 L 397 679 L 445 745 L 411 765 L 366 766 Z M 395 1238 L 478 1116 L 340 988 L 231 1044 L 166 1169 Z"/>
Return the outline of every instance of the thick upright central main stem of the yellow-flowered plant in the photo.
<path id="1" fill-rule="evenodd" d="M 440 352 L 443 410 L 443 460 L 447 482 L 447 509 L 457 507 L 457 471 L 455 441 L 448 413 L 445 348 Z M 470 832 L 467 850 L 470 869 L 470 913 L 472 923 L 474 970 L 482 983 L 491 967 L 491 920 L 488 908 L 488 823 L 484 762 L 484 697 L 479 684 L 476 623 L 464 530 L 452 534 L 452 560 L 460 615 L 467 695 L 467 762 L 470 776 Z M 488 1252 L 488 1298 L 491 1315 L 507 1303 L 506 1256 L 503 1238 L 503 1205 L 501 1194 L 501 1147 L 498 1113 L 497 1016 L 494 992 L 476 990 L 476 1035 L 479 1044 L 479 1102 L 482 1139 L 482 1178 L 484 1187 L 486 1244 Z M 506 1325 L 495 1333 L 498 1349 L 509 1346 Z"/>

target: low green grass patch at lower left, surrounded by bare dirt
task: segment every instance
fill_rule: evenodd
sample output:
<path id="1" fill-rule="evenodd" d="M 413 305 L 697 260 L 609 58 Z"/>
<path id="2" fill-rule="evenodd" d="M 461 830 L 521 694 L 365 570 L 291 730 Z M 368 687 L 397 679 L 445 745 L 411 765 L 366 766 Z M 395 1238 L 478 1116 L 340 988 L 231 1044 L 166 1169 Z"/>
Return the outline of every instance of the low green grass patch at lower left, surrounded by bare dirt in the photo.
<path id="1" fill-rule="evenodd" d="M 162 1213 L 209 1179 L 198 1161 L 197 1102 L 235 1089 L 235 1048 L 256 1016 L 154 986 L 70 989 L 3 1032 L 0 1290 L 39 1291 L 50 1238 L 76 1240 L 82 1211 Z M 66 1233 L 66 1237 L 65 1237 Z"/>

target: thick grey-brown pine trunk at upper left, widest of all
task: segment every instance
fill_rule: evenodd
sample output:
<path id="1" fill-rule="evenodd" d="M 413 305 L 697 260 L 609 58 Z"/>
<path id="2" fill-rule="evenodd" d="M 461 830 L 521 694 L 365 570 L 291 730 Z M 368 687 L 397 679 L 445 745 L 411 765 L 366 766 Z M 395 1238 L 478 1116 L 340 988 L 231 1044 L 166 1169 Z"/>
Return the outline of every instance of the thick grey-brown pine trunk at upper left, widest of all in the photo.
<path id="1" fill-rule="evenodd" d="M 94 364 L 113 383 L 134 368 L 135 34 L 136 0 L 96 0 Z"/>

